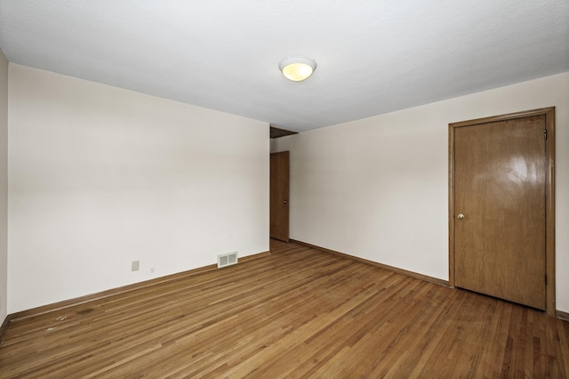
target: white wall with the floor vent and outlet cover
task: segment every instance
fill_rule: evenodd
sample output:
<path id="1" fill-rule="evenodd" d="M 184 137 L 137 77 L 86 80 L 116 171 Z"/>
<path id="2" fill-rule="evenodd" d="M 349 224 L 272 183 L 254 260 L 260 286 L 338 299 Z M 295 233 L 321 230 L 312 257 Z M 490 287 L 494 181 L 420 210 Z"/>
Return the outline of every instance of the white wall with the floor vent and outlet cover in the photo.
<path id="1" fill-rule="evenodd" d="M 268 251 L 268 124 L 9 75 L 10 313 Z"/>

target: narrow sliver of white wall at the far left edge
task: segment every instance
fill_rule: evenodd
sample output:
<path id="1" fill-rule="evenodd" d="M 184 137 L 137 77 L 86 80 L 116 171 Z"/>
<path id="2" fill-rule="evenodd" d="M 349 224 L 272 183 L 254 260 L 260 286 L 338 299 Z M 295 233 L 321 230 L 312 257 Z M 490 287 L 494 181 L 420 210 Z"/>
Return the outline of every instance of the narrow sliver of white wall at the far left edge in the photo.
<path id="1" fill-rule="evenodd" d="M 8 60 L 0 50 L 0 325 L 8 297 Z"/>

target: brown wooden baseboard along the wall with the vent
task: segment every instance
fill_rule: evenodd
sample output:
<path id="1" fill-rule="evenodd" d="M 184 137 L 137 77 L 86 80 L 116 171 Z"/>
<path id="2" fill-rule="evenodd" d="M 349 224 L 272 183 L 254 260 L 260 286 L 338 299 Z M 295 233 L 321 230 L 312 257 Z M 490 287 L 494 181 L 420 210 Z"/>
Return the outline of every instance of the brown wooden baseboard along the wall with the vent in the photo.
<path id="1" fill-rule="evenodd" d="M 239 262 L 240 263 L 249 262 L 268 255 L 270 255 L 270 251 L 266 251 L 264 253 L 259 253 L 259 254 L 247 255 L 244 256 L 243 258 L 239 258 Z M 8 322 L 4 321 L 4 324 L 6 324 L 6 329 L 7 329 L 9 327 L 9 324 L 13 321 L 19 321 L 21 319 L 29 319 L 32 317 L 43 315 L 45 313 L 65 310 L 70 307 L 75 307 L 76 305 L 81 305 L 88 302 L 94 302 L 97 300 L 108 298 L 110 296 L 115 296 L 117 294 L 126 294 L 141 288 L 146 288 L 148 286 L 156 286 L 158 284 L 168 283 L 175 280 L 180 280 L 182 278 L 188 278 L 188 276 L 194 276 L 212 270 L 218 270 L 217 264 L 210 264 L 208 266 L 200 267 L 194 270 L 187 270 L 172 275 L 166 275 L 160 278 L 149 279 L 138 283 L 134 283 L 132 285 L 120 286 L 117 288 L 112 288 L 106 291 L 102 291 L 97 294 L 87 294 L 84 296 L 76 297 L 74 299 L 64 300 L 62 302 L 54 302 L 52 304 L 43 305 L 29 310 L 20 310 L 19 312 L 15 312 L 11 315 L 8 315 L 6 319 L 10 318 L 10 320 Z M 0 329 L 0 332 L 4 331 L 4 324 L 2 325 L 2 329 Z M 2 335 L 0 335 L 0 337 L 2 337 Z"/>

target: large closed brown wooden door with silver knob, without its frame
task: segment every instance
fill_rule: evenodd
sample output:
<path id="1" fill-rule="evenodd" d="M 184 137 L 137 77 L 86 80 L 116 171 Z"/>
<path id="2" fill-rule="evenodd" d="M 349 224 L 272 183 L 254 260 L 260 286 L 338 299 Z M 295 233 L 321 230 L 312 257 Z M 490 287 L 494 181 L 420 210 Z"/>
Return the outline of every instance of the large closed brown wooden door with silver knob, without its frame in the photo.
<path id="1" fill-rule="evenodd" d="M 546 117 L 455 127 L 455 285 L 546 309 Z"/>

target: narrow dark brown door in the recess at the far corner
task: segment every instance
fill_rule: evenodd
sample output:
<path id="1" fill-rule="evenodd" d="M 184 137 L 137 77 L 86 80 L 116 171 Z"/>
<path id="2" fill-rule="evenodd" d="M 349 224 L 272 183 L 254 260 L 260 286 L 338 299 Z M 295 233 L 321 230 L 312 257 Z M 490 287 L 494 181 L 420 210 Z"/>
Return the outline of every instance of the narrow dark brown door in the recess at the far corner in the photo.
<path id="1" fill-rule="evenodd" d="M 270 238 L 288 242 L 289 152 L 270 155 Z"/>

